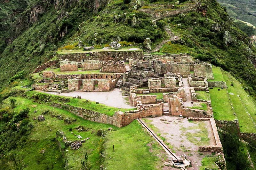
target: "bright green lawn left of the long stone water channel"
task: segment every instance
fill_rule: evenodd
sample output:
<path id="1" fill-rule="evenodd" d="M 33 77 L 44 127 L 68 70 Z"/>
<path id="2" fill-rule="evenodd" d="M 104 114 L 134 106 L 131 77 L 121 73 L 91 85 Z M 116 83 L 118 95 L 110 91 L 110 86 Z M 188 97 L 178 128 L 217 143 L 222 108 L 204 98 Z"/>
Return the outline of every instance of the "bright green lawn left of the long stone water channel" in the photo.
<path id="1" fill-rule="evenodd" d="M 162 148 L 137 120 L 117 131 L 108 132 L 104 146 L 103 165 L 109 170 L 162 169 Z"/>

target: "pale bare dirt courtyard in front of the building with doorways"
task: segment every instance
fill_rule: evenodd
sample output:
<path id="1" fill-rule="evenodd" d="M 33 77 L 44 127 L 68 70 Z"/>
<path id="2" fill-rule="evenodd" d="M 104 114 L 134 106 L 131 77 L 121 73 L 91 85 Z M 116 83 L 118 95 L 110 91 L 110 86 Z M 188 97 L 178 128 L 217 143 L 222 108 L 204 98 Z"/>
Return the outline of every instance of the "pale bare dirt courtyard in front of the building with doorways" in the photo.
<path id="1" fill-rule="evenodd" d="M 120 89 L 113 89 L 110 92 L 68 92 L 68 93 L 57 93 L 57 92 L 46 92 L 49 94 L 55 94 L 59 96 L 77 97 L 81 96 L 82 99 L 91 101 L 98 101 L 101 104 L 105 104 L 111 107 L 120 108 L 134 108 L 129 103 L 128 96 L 122 96 Z"/>

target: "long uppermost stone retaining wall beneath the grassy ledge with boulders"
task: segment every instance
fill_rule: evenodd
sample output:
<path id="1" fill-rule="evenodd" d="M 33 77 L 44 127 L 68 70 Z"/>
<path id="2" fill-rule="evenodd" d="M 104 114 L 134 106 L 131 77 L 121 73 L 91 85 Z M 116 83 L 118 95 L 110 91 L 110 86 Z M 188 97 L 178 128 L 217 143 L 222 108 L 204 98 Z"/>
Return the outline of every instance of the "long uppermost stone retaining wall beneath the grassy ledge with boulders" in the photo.
<path id="1" fill-rule="evenodd" d="M 80 62 L 85 60 L 100 60 L 100 61 L 127 61 L 131 59 L 143 58 L 143 51 L 98 51 L 98 52 L 85 52 L 85 53 L 72 53 L 72 54 L 58 54 L 61 60 L 68 59 L 70 61 Z"/>

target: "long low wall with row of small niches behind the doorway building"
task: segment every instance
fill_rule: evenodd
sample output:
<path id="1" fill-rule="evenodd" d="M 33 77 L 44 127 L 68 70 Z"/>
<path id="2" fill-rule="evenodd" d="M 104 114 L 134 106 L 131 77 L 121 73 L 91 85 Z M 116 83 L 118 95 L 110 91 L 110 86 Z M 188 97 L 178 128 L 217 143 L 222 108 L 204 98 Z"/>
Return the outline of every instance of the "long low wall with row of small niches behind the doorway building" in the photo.
<path id="1" fill-rule="evenodd" d="M 72 78 L 82 78 L 82 79 L 101 79 L 101 78 L 119 78 L 118 73 L 92 73 L 92 74 L 55 74 L 52 71 L 44 71 L 43 78 L 53 78 L 53 79 L 72 79 Z"/>

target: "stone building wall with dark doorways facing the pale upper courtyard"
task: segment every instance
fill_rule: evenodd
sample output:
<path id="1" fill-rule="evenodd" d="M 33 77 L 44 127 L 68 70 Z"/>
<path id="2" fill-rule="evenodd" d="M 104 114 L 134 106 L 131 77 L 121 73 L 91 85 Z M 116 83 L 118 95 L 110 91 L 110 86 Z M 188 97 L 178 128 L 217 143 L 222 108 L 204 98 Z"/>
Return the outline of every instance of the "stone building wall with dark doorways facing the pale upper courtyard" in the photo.
<path id="1" fill-rule="evenodd" d="M 68 89 L 83 92 L 109 92 L 117 82 L 116 79 L 68 79 Z"/>

